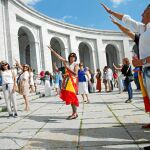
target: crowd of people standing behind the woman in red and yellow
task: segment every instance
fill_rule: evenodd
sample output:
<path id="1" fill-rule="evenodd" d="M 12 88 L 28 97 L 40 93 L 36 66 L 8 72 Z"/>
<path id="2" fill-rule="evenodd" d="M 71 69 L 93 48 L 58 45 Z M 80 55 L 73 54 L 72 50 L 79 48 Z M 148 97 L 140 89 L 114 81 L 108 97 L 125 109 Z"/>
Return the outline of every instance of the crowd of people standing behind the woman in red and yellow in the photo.
<path id="1" fill-rule="evenodd" d="M 74 57 L 76 56 L 74 53 L 71 54 Z M 70 57 L 70 59 L 74 57 Z M 75 58 L 77 59 L 77 57 Z M 88 96 L 89 93 L 100 93 L 102 91 L 102 83 L 104 84 L 104 92 L 112 92 L 114 88 L 118 88 L 119 93 L 127 90 L 129 98 L 125 102 L 132 101 L 131 82 L 128 82 L 127 79 L 125 79 L 125 76 L 132 75 L 131 65 L 127 58 L 123 59 L 123 65 L 120 65 L 120 68 L 115 65 L 113 65 L 114 68 L 112 69 L 105 66 L 102 72 L 98 68 L 95 73 L 82 62 L 74 64 L 78 66 L 76 73 L 78 84 L 75 93 L 82 96 L 84 103 L 90 103 Z M 6 61 L 1 61 L 0 65 L 1 85 L 9 116 L 18 116 L 16 92 L 23 96 L 25 111 L 29 111 L 28 96 L 31 92 L 38 93 L 37 83 L 44 85 L 44 93 L 42 93 L 42 97 L 52 95 L 61 95 L 61 97 L 63 97 L 65 95 L 62 93 L 62 89 L 64 88 L 64 84 L 66 86 L 65 82 L 68 82 L 68 75 L 66 75 L 66 72 L 62 71 L 62 68 L 58 68 L 56 63 L 53 64 L 53 73 L 50 73 L 49 71 L 41 71 L 39 74 L 37 74 L 29 65 L 21 65 L 18 61 L 16 61 L 16 64 L 12 67 L 10 67 Z M 127 68 L 128 71 L 125 71 Z M 136 73 L 134 79 L 135 84 L 137 85 L 137 90 L 140 90 L 137 74 L 138 68 L 135 68 L 133 71 Z M 71 83 L 72 81 L 73 80 L 71 80 Z M 13 106 L 13 110 L 11 106 Z M 74 112 L 76 111 L 73 110 L 73 114 Z"/>

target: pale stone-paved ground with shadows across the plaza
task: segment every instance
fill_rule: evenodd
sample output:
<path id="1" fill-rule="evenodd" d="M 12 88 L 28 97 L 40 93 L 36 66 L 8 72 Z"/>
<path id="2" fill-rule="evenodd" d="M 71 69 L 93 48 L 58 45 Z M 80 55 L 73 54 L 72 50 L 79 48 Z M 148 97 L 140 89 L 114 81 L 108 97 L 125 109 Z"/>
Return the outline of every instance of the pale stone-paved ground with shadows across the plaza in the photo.
<path id="1" fill-rule="evenodd" d="M 127 93 L 90 94 L 90 104 L 81 97 L 76 120 L 58 97 L 31 101 L 31 111 L 19 104 L 19 117 L 0 113 L 0 149 L 23 150 L 139 150 L 150 145 L 150 122 L 144 112 L 141 94 L 134 92 L 134 103 L 126 104 Z"/>

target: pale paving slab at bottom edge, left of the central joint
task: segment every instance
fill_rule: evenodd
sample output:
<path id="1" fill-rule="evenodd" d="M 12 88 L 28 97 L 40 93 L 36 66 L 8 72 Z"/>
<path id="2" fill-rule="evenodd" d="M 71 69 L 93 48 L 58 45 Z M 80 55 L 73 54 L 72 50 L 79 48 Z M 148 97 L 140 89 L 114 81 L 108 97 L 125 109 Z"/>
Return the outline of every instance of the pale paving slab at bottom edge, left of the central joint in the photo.
<path id="1" fill-rule="evenodd" d="M 76 148 L 78 145 L 78 130 L 42 131 L 31 140 L 26 148 Z"/>

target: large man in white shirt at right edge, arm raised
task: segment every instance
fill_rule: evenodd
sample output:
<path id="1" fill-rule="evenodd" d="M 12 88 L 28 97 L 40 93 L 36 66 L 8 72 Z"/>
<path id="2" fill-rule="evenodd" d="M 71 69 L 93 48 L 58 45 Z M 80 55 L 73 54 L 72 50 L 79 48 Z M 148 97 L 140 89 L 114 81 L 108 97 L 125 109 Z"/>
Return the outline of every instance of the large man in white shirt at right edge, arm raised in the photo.
<path id="1" fill-rule="evenodd" d="M 139 60 L 133 60 L 134 66 L 143 66 L 144 84 L 150 99 L 150 4 L 146 7 L 142 14 L 142 21 L 137 22 L 128 15 L 123 15 L 114 12 L 104 4 L 101 4 L 104 9 L 117 19 L 121 20 L 128 27 L 140 34 L 139 39 Z M 143 126 L 143 128 L 150 128 L 150 124 Z"/>

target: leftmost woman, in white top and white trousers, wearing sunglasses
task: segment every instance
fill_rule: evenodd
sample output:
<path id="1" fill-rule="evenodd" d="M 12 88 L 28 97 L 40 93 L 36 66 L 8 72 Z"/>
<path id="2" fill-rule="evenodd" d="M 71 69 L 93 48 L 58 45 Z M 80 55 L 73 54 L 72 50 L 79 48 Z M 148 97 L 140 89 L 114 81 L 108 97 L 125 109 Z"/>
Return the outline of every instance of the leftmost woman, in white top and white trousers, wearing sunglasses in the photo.
<path id="1" fill-rule="evenodd" d="M 1 62 L 1 75 L 2 75 L 2 89 L 4 93 L 5 102 L 7 105 L 7 111 L 9 117 L 17 117 L 17 104 L 16 104 L 16 76 L 15 73 L 10 69 L 7 62 Z M 13 106 L 13 109 L 12 107 Z"/>

